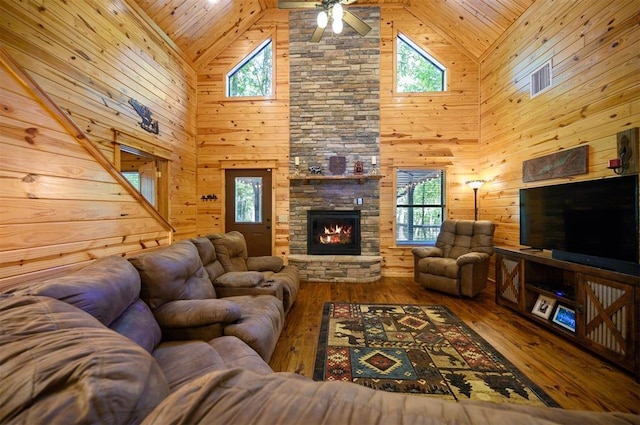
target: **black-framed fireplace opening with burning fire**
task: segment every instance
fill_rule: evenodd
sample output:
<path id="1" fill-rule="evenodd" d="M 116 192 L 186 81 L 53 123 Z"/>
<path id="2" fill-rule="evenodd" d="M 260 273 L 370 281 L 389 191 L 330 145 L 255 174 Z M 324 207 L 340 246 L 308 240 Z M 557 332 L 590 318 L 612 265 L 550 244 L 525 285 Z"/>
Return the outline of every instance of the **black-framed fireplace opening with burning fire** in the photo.
<path id="1" fill-rule="evenodd" d="M 360 211 L 307 212 L 309 255 L 360 255 Z"/>

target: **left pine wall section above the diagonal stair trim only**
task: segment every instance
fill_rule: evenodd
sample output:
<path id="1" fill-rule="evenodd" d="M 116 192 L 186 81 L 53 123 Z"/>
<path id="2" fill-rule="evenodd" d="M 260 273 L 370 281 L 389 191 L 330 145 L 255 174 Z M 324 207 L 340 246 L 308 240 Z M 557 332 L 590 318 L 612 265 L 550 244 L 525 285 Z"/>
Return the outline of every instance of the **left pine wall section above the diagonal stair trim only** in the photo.
<path id="1" fill-rule="evenodd" d="M 112 128 L 170 152 L 169 221 L 181 223 L 177 239 L 194 236 L 195 179 L 188 177 L 196 168 L 196 81 L 175 45 L 126 3 L 54 2 L 38 10 L 7 1 L 0 8 L 2 44 L 105 154 L 113 158 Z M 139 127 L 130 98 L 151 109 L 159 135 Z"/>

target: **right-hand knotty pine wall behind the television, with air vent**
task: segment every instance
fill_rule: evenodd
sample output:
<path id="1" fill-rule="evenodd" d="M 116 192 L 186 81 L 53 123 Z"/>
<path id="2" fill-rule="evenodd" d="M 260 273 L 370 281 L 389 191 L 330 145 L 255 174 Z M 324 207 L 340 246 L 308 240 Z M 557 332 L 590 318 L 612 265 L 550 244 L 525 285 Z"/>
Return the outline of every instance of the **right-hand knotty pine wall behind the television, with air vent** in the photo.
<path id="1" fill-rule="evenodd" d="M 616 133 L 640 127 L 638 52 L 636 0 L 539 0 L 483 57 L 479 203 L 496 244 L 519 246 L 518 189 L 615 177 Z M 553 87 L 530 99 L 529 74 L 548 60 Z M 588 174 L 523 183 L 523 161 L 581 145 Z"/>

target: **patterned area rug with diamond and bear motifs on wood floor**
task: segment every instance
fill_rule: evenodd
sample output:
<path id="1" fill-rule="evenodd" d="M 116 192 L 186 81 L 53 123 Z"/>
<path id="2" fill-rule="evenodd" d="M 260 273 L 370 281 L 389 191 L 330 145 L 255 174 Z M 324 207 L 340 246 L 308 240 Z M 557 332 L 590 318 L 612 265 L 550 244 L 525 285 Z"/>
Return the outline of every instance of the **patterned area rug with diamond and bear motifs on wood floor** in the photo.
<path id="1" fill-rule="evenodd" d="M 442 305 L 325 303 L 313 379 L 456 401 L 559 406 Z"/>

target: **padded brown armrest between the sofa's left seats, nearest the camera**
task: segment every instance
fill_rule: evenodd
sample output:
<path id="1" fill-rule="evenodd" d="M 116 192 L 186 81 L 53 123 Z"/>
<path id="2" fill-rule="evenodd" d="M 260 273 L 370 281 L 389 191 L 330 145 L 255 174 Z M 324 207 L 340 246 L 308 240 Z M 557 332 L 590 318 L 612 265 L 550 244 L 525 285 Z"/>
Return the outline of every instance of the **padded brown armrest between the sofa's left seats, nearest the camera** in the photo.
<path id="1" fill-rule="evenodd" d="M 228 300 L 176 300 L 154 310 L 158 324 L 163 328 L 186 328 L 214 323 L 231 323 L 240 318 L 238 304 Z"/>

